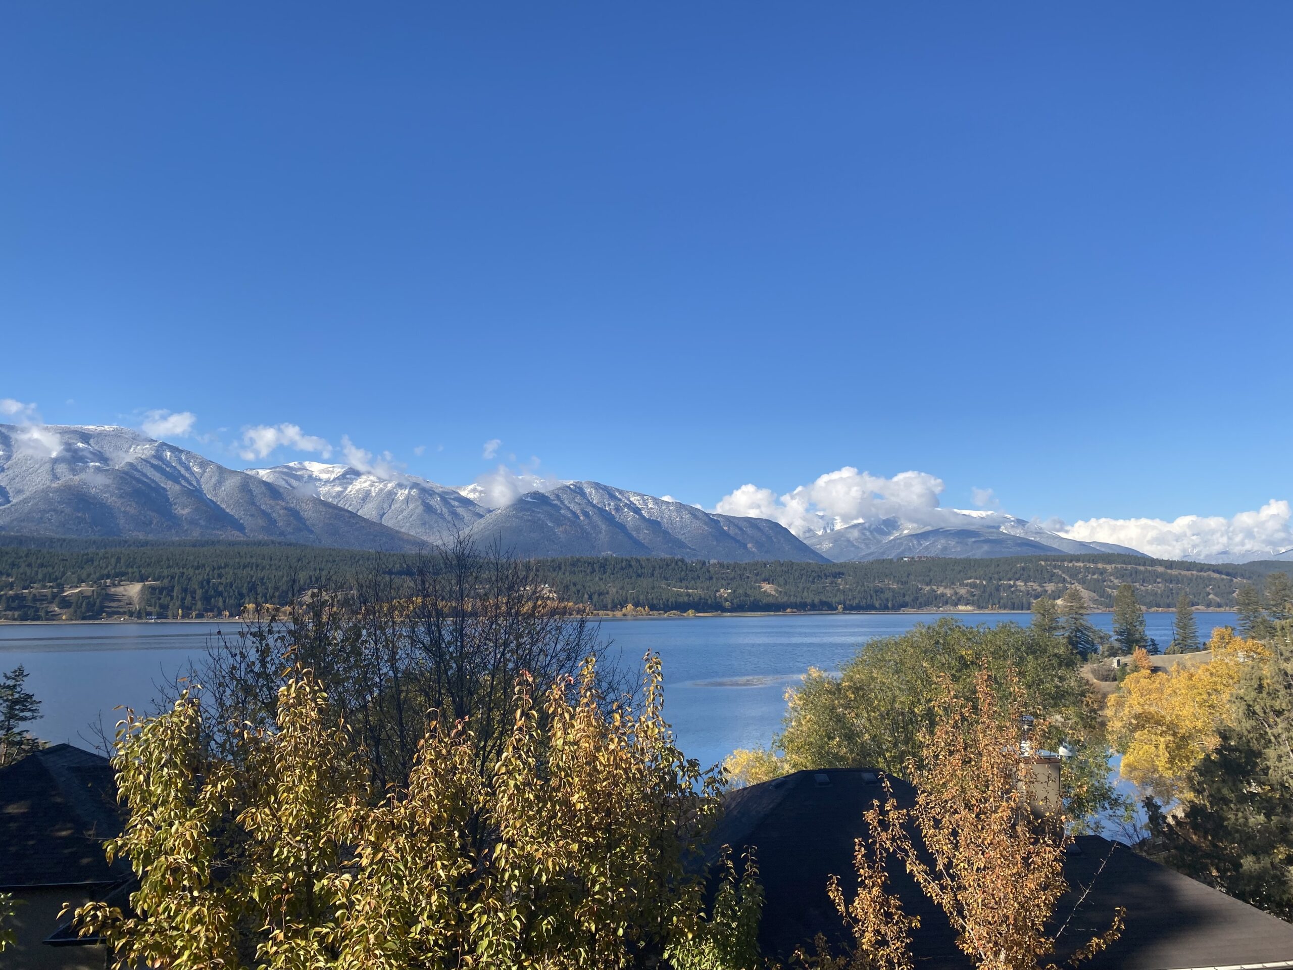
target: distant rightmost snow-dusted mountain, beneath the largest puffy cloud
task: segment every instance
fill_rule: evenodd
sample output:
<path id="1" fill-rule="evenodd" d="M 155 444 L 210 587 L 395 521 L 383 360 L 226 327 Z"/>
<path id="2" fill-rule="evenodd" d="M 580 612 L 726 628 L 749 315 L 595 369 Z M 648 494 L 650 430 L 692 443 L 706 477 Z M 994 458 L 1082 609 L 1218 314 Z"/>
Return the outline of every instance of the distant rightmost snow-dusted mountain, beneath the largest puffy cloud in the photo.
<path id="1" fill-rule="evenodd" d="M 1055 551 L 1073 555 L 1095 552 L 1143 555 L 1126 546 L 1065 539 L 1036 523 L 1001 512 L 946 510 L 940 516 L 940 523 L 945 524 L 931 526 L 904 523 L 900 519 L 881 519 L 804 535 L 803 539 L 834 563 L 905 556 L 993 559 L 1036 556 Z"/>

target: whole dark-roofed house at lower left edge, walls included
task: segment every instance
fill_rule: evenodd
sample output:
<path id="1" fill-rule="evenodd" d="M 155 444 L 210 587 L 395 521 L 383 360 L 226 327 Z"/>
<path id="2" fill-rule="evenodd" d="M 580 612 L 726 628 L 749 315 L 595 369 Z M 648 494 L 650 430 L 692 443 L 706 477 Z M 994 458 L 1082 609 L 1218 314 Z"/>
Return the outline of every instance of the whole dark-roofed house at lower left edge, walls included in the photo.
<path id="1" fill-rule="evenodd" d="M 128 865 L 103 857 L 103 839 L 120 825 L 112 770 L 101 755 L 54 745 L 0 768 L 0 892 L 18 900 L 18 944 L 0 953 L 0 969 L 103 969 L 106 948 L 59 934 L 58 912 L 125 885 Z"/>

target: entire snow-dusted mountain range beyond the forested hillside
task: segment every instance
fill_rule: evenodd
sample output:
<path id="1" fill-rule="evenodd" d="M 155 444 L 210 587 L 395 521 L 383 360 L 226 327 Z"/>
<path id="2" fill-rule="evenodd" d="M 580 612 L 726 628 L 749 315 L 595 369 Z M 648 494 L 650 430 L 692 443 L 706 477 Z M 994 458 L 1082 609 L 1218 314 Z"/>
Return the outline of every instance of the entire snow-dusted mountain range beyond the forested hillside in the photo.
<path id="1" fill-rule="evenodd" d="M 548 485 L 553 485 L 548 482 Z M 568 481 L 500 508 L 449 488 L 347 464 L 246 472 L 118 427 L 0 424 L 0 533 L 158 539 L 279 539 L 416 551 L 468 533 L 522 556 L 676 556 L 719 561 L 860 561 L 1124 552 L 996 512 L 937 510 L 795 535 L 768 519 Z"/>

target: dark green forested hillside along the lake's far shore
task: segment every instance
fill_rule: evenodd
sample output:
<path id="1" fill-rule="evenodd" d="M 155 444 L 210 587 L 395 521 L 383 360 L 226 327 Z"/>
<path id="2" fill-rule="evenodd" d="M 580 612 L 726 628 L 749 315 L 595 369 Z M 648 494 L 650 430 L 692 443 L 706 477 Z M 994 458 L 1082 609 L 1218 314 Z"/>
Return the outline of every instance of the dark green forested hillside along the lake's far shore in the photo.
<path id="1" fill-rule="evenodd" d="M 238 616 L 356 574 L 403 573 L 407 556 L 264 542 L 146 543 L 6 539 L 0 544 L 0 620 Z M 551 559 L 540 574 L 564 600 L 597 612 L 1028 609 L 1072 585 L 1094 609 L 1131 583 L 1149 609 L 1186 594 L 1230 609 L 1245 581 L 1293 565 L 1210 565 L 1135 556 L 912 559 L 871 563 L 696 563 L 680 559 Z"/>

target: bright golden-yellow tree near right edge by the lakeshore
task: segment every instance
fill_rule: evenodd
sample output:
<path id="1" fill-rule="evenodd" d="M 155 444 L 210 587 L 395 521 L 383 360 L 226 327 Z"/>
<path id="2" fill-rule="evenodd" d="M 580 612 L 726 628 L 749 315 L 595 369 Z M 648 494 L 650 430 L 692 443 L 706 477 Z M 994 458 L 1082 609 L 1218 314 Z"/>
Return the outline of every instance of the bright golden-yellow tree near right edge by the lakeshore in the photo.
<path id="1" fill-rule="evenodd" d="M 1218 627 L 1208 644 L 1212 661 L 1178 663 L 1168 673 L 1137 657 L 1137 671 L 1108 700 L 1109 738 L 1122 755 L 1122 777 L 1155 798 L 1188 799 L 1186 779 L 1218 742 L 1245 662 L 1262 662 L 1267 649 Z"/>

